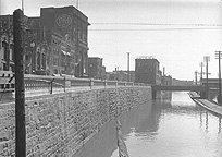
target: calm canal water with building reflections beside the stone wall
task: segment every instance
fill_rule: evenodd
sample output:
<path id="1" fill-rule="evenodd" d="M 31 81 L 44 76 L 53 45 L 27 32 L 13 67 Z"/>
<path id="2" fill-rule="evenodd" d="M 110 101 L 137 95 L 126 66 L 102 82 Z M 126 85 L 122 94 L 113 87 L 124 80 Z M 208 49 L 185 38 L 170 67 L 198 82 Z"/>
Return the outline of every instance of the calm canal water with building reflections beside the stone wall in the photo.
<path id="1" fill-rule="evenodd" d="M 130 157 L 221 157 L 221 118 L 187 93 L 164 93 L 121 116 Z M 75 157 L 119 157 L 116 122 L 109 122 Z"/>

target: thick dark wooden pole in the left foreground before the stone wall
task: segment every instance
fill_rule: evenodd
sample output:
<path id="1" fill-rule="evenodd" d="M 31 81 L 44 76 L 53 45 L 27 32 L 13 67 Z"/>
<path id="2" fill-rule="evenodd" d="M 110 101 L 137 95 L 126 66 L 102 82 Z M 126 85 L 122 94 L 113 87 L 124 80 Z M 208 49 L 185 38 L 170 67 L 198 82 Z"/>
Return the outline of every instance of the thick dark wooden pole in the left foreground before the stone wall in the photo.
<path id="1" fill-rule="evenodd" d="M 26 156 L 26 131 L 25 131 L 25 89 L 23 69 L 23 11 L 15 10 L 13 13 L 13 36 L 15 55 L 15 155 Z"/>

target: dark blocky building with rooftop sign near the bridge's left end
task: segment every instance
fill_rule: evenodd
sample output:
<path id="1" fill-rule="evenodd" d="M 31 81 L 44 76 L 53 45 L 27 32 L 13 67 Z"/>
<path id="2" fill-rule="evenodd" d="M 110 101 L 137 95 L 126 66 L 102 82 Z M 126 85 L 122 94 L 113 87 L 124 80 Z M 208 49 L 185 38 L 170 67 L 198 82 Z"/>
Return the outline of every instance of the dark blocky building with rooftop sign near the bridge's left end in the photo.
<path id="1" fill-rule="evenodd" d="M 162 72 L 159 61 L 150 57 L 140 57 L 135 63 L 135 82 L 152 85 L 161 84 Z"/>

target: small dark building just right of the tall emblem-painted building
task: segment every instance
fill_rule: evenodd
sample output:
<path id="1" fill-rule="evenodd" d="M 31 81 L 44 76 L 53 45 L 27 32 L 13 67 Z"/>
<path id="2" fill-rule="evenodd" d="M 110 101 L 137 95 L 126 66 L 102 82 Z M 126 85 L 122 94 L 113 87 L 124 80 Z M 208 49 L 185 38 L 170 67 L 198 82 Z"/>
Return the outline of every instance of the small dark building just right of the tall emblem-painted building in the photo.
<path id="1" fill-rule="evenodd" d="M 88 76 L 96 80 L 106 80 L 106 67 L 102 65 L 102 58 L 88 58 Z"/>

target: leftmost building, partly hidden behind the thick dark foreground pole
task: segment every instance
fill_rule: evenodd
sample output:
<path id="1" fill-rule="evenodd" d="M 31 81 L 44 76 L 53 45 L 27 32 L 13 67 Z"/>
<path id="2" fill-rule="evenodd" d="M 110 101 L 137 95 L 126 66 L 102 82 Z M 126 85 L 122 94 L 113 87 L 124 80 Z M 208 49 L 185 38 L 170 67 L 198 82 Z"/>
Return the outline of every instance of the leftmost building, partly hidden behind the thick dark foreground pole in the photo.
<path id="1" fill-rule="evenodd" d="M 23 17 L 23 55 L 25 72 L 32 71 L 34 38 L 32 21 Z M 13 15 L 0 15 L 0 70 L 14 72 Z"/>

